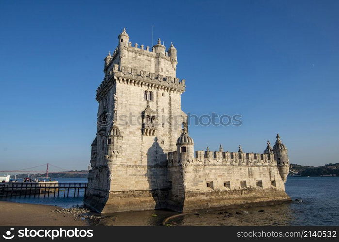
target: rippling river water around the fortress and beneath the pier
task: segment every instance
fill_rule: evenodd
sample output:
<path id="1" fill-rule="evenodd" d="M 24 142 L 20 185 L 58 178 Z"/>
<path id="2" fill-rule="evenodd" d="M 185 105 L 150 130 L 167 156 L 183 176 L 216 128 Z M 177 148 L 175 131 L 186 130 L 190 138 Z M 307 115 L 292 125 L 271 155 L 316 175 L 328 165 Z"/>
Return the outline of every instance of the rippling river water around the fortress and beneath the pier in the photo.
<path id="1" fill-rule="evenodd" d="M 66 180 L 67 182 L 86 182 L 83 178 L 57 179 L 60 182 Z M 290 204 L 198 212 L 179 216 L 168 223 L 183 226 L 339 225 L 339 177 L 288 177 L 286 192 L 293 200 Z M 302 202 L 295 201 L 295 199 L 302 200 Z M 6 200 L 72 207 L 83 204 L 83 194 L 80 194 L 78 198 L 7 198 Z M 102 223 L 106 225 L 160 225 L 163 219 L 175 214 L 178 213 L 166 210 L 119 212 L 105 216 Z"/>

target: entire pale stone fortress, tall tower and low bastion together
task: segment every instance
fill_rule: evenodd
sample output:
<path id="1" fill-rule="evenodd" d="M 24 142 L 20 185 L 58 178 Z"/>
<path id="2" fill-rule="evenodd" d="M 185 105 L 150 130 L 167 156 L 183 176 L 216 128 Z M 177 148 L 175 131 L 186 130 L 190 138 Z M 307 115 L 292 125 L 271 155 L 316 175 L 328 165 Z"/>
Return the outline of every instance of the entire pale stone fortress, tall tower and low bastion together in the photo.
<path id="1" fill-rule="evenodd" d="M 97 89 L 85 205 L 97 212 L 168 208 L 178 212 L 290 201 L 287 149 L 279 135 L 263 154 L 196 151 L 181 110 L 171 44 L 144 49 L 124 29 Z"/>

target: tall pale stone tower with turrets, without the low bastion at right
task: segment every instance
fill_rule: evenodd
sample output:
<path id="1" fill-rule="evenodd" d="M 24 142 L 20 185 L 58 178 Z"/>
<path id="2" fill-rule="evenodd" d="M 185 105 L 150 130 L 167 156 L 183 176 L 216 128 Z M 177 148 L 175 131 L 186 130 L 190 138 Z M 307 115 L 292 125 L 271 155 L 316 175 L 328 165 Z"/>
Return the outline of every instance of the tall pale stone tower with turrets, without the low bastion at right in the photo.
<path id="1" fill-rule="evenodd" d="M 165 206 L 167 153 L 176 151 L 187 119 L 181 110 L 185 80 L 176 77 L 177 63 L 173 44 L 166 52 L 159 39 L 144 49 L 132 46 L 125 29 L 119 34 L 118 46 L 104 59 L 96 93 L 88 207 L 119 212 Z"/>

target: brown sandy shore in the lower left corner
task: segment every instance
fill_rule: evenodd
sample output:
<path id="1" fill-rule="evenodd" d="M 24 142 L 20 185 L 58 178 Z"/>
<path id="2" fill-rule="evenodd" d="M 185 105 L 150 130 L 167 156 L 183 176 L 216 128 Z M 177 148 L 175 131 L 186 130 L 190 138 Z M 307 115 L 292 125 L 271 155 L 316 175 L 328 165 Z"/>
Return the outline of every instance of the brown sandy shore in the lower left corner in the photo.
<path id="1" fill-rule="evenodd" d="M 86 220 L 75 220 L 68 214 L 48 213 L 58 207 L 50 205 L 0 201 L 0 226 L 83 226 Z"/>

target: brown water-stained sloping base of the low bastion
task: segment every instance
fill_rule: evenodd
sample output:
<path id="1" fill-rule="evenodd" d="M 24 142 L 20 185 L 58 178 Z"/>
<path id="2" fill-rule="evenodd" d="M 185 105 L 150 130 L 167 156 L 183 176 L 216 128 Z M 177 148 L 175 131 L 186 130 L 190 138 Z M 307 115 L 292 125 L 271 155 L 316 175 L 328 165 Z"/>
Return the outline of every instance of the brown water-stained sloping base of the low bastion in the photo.
<path id="1" fill-rule="evenodd" d="M 219 210 L 226 208 L 245 208 L 267 206 L 291 202 L 285 191 L 221 191 L 209 193 L 185 192 L 185 201 L 181 210 L 176 212 L 193 212 L 199 210 Z M 172 209 L 173 210 L 173 209 Z"/>

